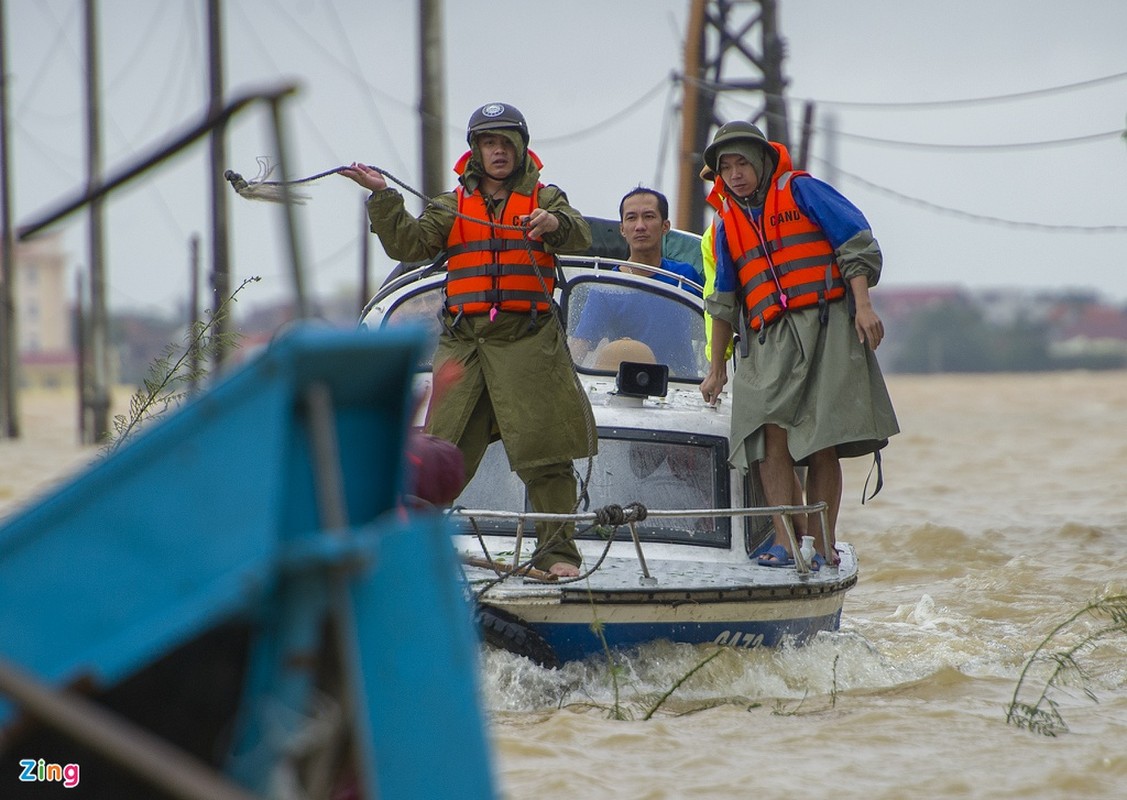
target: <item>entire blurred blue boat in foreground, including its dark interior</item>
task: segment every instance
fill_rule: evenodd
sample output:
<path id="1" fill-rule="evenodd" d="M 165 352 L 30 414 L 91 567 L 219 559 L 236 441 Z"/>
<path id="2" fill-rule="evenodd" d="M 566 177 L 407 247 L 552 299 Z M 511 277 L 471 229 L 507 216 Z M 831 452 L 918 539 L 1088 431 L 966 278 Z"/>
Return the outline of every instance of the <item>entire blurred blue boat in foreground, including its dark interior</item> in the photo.
<path id="1" fill-rule="evenodd" d="M 494 797 L 450 521 L 399 508 L 421 347 L 299 328 L 0 526 L 5 797 Z"/>

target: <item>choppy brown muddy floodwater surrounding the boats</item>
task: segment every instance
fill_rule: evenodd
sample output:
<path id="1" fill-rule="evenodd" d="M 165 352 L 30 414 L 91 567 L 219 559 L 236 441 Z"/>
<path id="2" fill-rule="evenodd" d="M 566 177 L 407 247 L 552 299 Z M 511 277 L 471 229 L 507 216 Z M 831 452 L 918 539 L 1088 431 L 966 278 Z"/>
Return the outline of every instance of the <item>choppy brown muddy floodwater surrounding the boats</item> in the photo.
<path id="1" fill-rule="evenodd" d="M 889 386 L 904 433 L 882 492 L 862 506 L 870 463 L 845 463 L 838 537 L 861 578 L 841 632 L 800 650 L 726 651 L 649 720 L 709 650 L 655 645 L 613 672 L 487 654 L 505 797 L 1127 797 L 1127 635 L 1081 655 L 1094 700 L 1080 685 L 1051 695 L 1068 732 L 1005 723 L 1053 628 L 1127 592 L 1127 373 Z M 94 457 L 73 444 L 72 405 L 23 403 L 25 437 L 0 441 L 0 515 Z M 1027 700 L 1044 682 L 1029 685 Z"/>

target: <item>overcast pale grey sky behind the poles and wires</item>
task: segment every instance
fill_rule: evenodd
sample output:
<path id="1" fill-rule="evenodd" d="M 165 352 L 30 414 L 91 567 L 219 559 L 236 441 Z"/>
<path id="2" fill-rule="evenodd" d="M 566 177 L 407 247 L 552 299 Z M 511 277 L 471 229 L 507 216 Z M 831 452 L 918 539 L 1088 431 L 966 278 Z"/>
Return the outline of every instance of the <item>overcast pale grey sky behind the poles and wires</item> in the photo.
<path id="1" fill-rule="evenodd" d="M 109 172 L 201 118 L 205 2 L 98 6 Z M 228 91 L 300 86 L 286 108 L 295 175 L 362 160 L 421 183 L 415 2 L 224 6 Z M 464 150 L 469 114 L 504 100 L 527 117 L 544 179 L 583 212 L 614 216 L 638 183 L 675 205 L 681 95 L 671 77 L 682 69 L 689 6 L 446 0 L 449 162 Z M 18 224 L 83 184 L 82 2 L 7 0 L 7 14 Z M 814 100 L 810 169 L 869 217 L 886 285 L 1075 286 L 1127 301 L 1127 143 L 1118 136 L 1127 2 L 1077 0 L 1065 11 L 1048 0 L 780 0 L 779 19 L 792 137 L 802 103 Z M 721 108 L 736 118 L 758 105 L 731 96 Z M 263 108 L 240 118 L 228 146 L 228 166 L 252 176 L 257 157 L 273 152 Z M 201 233 L 210 250 L 206 169 L 199 146 L 110 201 L 113 308 L 171 313 L 184 302 L 189 237 Z M 364 195 L 336 176 L 309 194 L 299 212 L 307 282 L 322 295 L 355 293 Z M 284 299 L 281 214 L 229 199 L 232 281 L 264 278 L 241 301 Z M 62 229 L 72 261 L 86 264 L 81 215 Z M 372 245 L 378 279 L 391 265 Z"/>

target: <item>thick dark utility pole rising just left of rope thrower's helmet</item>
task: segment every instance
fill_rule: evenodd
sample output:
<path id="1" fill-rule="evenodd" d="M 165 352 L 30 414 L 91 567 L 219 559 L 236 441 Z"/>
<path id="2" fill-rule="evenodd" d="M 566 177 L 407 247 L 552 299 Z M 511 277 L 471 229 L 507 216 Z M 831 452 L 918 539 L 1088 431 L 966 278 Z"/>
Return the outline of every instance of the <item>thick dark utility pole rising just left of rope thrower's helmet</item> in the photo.
<path id="1" fill-rule="evenodd" d="M 427 197 L 434 197 L 445 188 L 446 91 L 442 2 L 419 0 L 419 141 L 423 143 L 423 194 Z"/>

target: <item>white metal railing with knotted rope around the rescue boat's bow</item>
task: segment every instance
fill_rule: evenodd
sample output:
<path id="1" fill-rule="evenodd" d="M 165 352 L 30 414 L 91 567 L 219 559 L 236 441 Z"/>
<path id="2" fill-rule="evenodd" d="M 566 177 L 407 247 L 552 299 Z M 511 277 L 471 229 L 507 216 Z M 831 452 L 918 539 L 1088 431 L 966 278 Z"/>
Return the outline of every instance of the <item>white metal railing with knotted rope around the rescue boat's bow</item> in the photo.
<path id="1" fill-rule="evenodd" d="M 814 503 L 805 506 L 752 506 L 744 508 L 683 508 L 683 509 L 669 509 L 669 508 L 655 508 L 649 509 L 642 506 L 640 503 L 631 503 L 625 506 L 603 506 L 593 512 L 582 512 L 576 514 L 548 514 L 538 512 L 505 512 L 487 508 L 454 508 L 450 510 L 450 516 L 461 517 L 469 519 L 473 523 L 476 519 L 503 519 L 516 523 L 516 543 L 513 550 L 513 566 L 503 566 L 496 562 L 488 553 L 486 553 L 487 566 L 491 566 L 495 571 L 497 571 L 498 577 L 507 577 L 509 575 L 523 575 L 526 578 L 532 578 L 534 580 L 559 580 L 559 583 L 574 583 L 576 580 L 582 580 L 586 578 L 592 572 L 598 569 L 598 566 L 605 559 L 606 553 L 610 552 L 611 543 L 614 542 L 614 537 L 610 536 L 607 539 L 606 546 L 600 559 L 595 562 L 593 567 L 587 569 L 584 574 L 579 575 L 577 578 L 566 578 L 557 579 L 556 576 L 549 576 L 547 574 L 538 572 L 532 570 L 531 559 L 525 562 L 522 555 L 522 545 L 524 541 L 524 530 L 527 523 L 535 524 L 538 522 L 545 523 L 575 523 L 587 524 L 587 525 L 602 525 L 610 526 L 612 528 L 618 528 L 621 525 L 627 525 L 630 531 L 630 539 L 635 545 L 635 552 L 638 557 L 638 565 L 641 568 L 641 580 L 644 583 L 656 583 L 654 577 L 649 574 L 649 567 L 646 563 L 646 555 L 642 552 L 641 537 L 638 535 L 637 523 L 642 519 L 648 519 L 651 517 L 663 518 L 663 517 L 708 517 L 708 518 L 719 518 L 719 517 L 766 517 L 766 516 L 778 516 L 782 522 L 783 531 L 787 534 L 787 539 L 790 542 L 791 552 L 795 554 L 795 567 L 799 575 L 808 576 L 811 572 L 810 562 L 804 558 L 801 548 L 799 548 L 798 539 L 795 535 L 795 524 L 792 517 L 799 514 L 817 514 L 820 521 L 822 528 L 822 546 L 824 552 L 833 552 L 833 544 L 829 542 L 829 512 L 828 507 L 824 501 Z M 476 526 L 474 526 L 476 527 Z M 479 541 L 481 540 L 481 534 L 477 534 Z M 485 542 L 481 542 L 482 549 L 485 549 Z M 832 562 L 828 562 L 832 563 Z M 483 566 L 476 562 L 476 566 Z"/>

